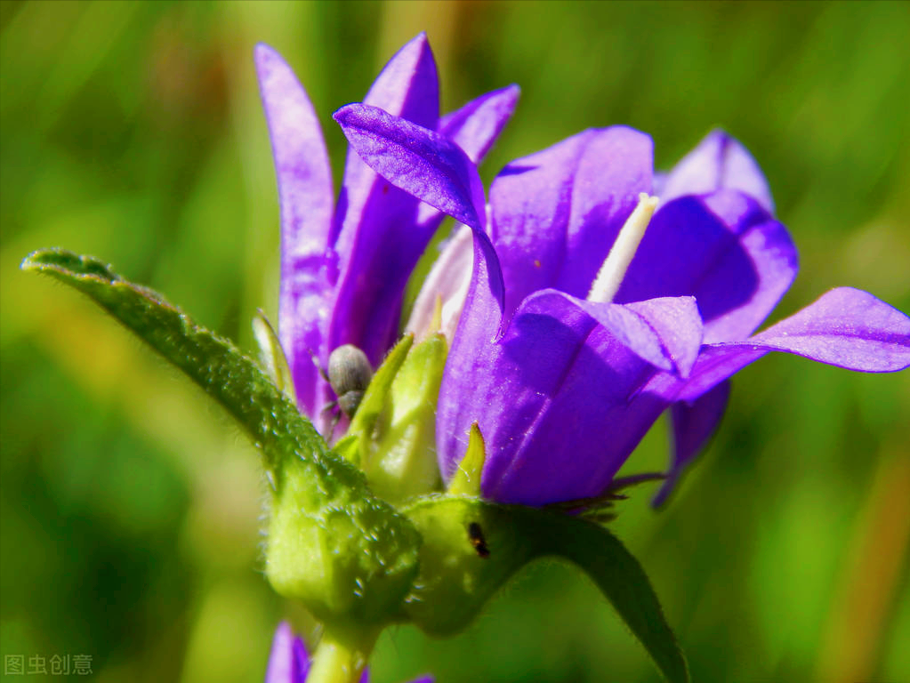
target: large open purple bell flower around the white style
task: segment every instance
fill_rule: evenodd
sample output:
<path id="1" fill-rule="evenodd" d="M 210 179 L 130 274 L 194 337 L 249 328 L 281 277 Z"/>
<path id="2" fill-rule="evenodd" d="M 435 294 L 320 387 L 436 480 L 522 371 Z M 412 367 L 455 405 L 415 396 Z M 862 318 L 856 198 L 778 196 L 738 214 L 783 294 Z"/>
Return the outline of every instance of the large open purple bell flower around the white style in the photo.
<path id="1" fill-rule="evenodd" d="M 472 229 L 437 445 L 450 477 L 479 424 L 485 497 L 599 496 L 667 407 L 672 480 L 723 415 L 725 380 L 769 351 L 910 366 L 910 318 L 848 287 L 753 335 L 793 282 L 796 251 L 758 166 L 723 133 L 659 179 L 662 206 L 611 297 L 602 266 L 627 220 L 642 224 L 636 197 L 653 191 L 648 136 L 588 130 L 512 162 L 490 188 L 488 230 L 476 167 L 456 144 L 369 105 L 335 118 L 392 184 Z"/>

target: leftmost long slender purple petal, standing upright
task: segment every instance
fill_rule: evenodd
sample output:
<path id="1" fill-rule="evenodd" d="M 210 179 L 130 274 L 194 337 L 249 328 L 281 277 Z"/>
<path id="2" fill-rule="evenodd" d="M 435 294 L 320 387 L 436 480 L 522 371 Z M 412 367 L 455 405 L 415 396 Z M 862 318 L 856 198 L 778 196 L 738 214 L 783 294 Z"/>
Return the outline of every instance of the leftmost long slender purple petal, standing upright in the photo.
<path id="1" fill-rule="evenodd" d="M 268 120 L 281 205 L 281 291 L 278 337 L 294 377 L 298 403 L 319 411 L 323 384 L 309 351 L 319 353 L 337 260 L 329 246 L 332 179 L 319 120 L 290 67 L 257 45 L 256 68 Z"/>

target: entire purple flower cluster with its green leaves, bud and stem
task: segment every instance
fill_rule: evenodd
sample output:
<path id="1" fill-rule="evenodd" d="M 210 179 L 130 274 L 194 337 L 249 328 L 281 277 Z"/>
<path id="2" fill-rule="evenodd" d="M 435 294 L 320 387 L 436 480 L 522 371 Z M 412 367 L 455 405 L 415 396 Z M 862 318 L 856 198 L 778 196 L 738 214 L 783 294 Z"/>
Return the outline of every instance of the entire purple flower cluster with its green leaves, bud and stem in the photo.
<path id="1" fill-rule="evenodd" d="M 335 201 L 306 91 L 268 46 L 256 65 L 281 210 L 278 336 L 254 322 L 265 367 L 94 257 L 40 249 L 22 267 L 93 298 L 260 448 L 265 574 L 322 628 L 312 659 L 278 628 L 268 683 L 362 683 L 384 628 L 457 633 L 553 556 L 687 683 L 645 572 L 597 523 L 617 489 L 660 477 L 665 499 L 723 417 L 730 377 L 772 351 L 910 367 L 910 317 L 839 287 L 756 332 L 794 281 L 796 249 L 753 157 L 723 132 L 658 175 L 649 136 L 586 130 L 505 166 L 488 196 L 477 165 L 518 88 L 440 116 L 418 35 L 335 113 L 350 143 Z M 405 286 L 445 216 L 461 225 L 399 338 Z M 666 474 L 618 478 L 665 410 Z"/>

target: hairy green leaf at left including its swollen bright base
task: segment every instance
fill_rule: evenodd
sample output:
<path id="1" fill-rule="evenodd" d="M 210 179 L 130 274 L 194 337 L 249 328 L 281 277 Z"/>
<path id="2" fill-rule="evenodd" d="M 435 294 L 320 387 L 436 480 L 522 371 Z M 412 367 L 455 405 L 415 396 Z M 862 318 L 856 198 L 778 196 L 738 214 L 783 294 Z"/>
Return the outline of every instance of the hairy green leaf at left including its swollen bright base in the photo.
<path id="1" fill-rule="evenodd" d="M 94 258 L 42 250 L 22 267 L 93 298 L 246 429 L 272 487 L 266 573 L 279 593 L 302 599 L 339 632 L 374 629 L 398 612 L 417 572 L 420 535 L 372 496 L 363 473 L 329 450 L 251 358 Z"/>

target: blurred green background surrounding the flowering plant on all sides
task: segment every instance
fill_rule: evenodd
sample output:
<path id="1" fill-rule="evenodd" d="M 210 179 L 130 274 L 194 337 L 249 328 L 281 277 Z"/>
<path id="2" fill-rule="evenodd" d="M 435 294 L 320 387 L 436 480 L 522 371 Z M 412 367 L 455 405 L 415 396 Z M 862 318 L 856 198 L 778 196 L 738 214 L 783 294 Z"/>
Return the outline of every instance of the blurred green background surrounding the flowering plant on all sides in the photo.
<path id="1" fill-rule="evenodd" d="M 713 126 L 769 177 L 802 270 L 775 317 L 840 285 L 910 308 L 910 4 L 3 2 L 2 639 L 103 681 L 261 680 L 307 615 L 262 576 L 257 454 L 75 293 L 21 273 L 100 256 L 252 345 L 277 306 L 278 205 L 252 49 L 326 126 L 426 30 L 446 110 L 518 83 L 485 180 L 588 126 L 666 168 Z M 795 357 L 745 370 L 670 505 L 622 504 L 696 681 L 910 680 L 910 382 Z M 632 470 L 660 468 L 660 423 Z M 379 640 L 374 681 L 656 681 L 573 567 L 530 567 L 458 638 Z M 40 677 L 35 677 L 40 678 Z"/>

